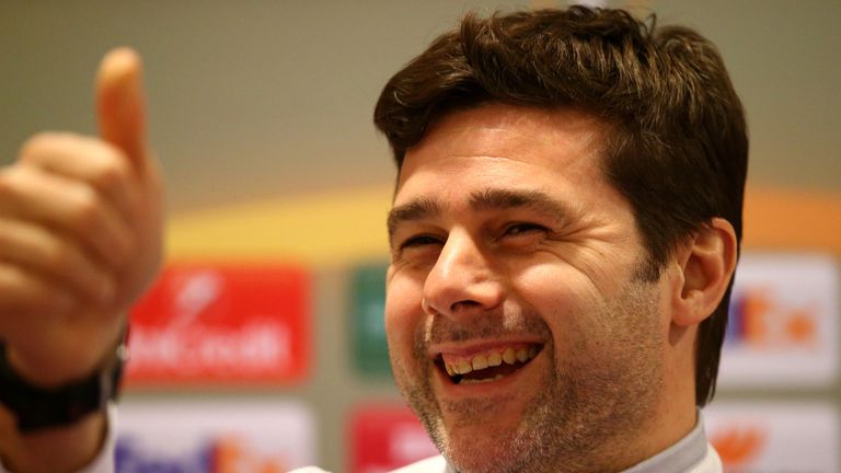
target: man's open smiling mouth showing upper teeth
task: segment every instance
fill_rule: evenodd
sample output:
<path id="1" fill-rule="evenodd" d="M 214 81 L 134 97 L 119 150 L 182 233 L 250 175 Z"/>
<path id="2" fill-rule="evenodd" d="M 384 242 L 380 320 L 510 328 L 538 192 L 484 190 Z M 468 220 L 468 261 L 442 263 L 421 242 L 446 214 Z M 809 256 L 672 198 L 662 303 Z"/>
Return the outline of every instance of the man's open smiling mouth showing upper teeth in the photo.
<path id="1" fill-rule="evenodd" d="M 542 345 L 499 347 L 470 357 L 442 353 L 435 365 L 453 384 L 475 384 L 500 380 L 528 365 Z"/>

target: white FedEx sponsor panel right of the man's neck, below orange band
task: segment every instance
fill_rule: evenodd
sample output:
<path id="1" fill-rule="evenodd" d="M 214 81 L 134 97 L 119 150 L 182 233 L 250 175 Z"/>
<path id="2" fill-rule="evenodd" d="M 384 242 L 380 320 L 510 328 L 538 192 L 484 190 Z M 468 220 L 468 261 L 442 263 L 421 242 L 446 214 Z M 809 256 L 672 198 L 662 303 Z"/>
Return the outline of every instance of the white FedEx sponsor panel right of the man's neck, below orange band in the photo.
<path id="1" fill-rule="evenodd" d="M 838 376 L 839 268 L 820 254 L 745 254 L 736 270 L 719 387 L 830 385 Z"/>

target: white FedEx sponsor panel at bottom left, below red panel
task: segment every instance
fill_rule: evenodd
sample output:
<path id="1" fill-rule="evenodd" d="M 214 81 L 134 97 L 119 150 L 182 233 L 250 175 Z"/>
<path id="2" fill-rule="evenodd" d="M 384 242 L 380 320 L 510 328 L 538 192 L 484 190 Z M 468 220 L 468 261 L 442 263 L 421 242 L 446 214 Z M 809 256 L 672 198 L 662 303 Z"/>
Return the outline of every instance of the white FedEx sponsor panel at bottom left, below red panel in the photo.
<path id="1" fill-rule="evenodd" d="M 316 463 L 314 438 L 298 403 L 127 401 L 115 464 L 118 473 L 281 473 Z"/>

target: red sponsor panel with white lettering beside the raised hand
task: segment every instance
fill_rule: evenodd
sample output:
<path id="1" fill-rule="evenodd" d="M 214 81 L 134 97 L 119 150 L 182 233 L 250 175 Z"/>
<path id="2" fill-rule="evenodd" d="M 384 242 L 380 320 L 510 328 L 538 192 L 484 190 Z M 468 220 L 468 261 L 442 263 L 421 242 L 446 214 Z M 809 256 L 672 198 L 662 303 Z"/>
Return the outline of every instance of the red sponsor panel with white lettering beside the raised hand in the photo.
<path id="1" fill-rule="evenodd" d="M 309 281 L 279 265 L 172 264 L 134 308 L 134 383 L 293 381 L 309 365 Z"/>

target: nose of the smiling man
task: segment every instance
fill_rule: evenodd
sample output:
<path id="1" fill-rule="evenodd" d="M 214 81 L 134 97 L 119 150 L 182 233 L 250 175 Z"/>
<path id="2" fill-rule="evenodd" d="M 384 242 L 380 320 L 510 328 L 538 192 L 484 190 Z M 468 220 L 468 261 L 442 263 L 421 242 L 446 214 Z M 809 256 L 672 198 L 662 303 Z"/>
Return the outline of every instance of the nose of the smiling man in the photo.
<path id="1" fill-rule="evenodd" d="M 429 314 L 466 318 L 496 308 L 503 286 L 489 255 L 466 232 L 452 231 L 424 282 Z"/>

